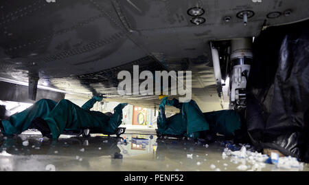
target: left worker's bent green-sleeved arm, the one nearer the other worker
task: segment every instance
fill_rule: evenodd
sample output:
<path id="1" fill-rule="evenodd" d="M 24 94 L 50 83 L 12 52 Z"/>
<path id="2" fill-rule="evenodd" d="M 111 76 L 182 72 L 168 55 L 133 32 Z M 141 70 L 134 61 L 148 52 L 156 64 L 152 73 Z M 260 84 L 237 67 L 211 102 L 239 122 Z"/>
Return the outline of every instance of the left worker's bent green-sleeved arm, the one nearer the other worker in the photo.
<path id="1" fill-rule="evenodd" d="M 108 128 L 105 129 L 106 131 L 113 133 L 119 125 L 122 124 L 122 109 L 124 109 L 126 105 L 128 105 L 128 103 L 119 103 L 119 105 L 115 107 L 113 116 L 108 120 Z"/>

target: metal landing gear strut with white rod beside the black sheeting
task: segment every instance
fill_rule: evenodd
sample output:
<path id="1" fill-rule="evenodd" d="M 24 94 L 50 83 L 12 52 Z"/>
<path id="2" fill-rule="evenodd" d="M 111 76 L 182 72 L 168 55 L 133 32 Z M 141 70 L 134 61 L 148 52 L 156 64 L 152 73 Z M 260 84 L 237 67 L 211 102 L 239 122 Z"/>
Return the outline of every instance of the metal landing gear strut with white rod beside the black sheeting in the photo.
<path id="1" fill-rule="evenodd" d="M 212 41 L 210 45 L 220 101 L 229 96 L 229 109 L 246 109 L 246 87 L 253 60 L 252 38 Z M 229 87 L 222 91 L 225 85 Z"/>

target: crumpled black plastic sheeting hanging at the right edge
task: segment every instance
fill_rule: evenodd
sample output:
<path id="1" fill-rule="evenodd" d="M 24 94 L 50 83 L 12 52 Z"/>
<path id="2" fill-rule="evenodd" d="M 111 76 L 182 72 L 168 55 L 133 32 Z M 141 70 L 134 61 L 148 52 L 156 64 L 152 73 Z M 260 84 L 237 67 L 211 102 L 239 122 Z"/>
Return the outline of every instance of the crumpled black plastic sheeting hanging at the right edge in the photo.
<path id="1" fill-rule="evenodd" d="M 247 129 L 260 149 L 308 162 L 309 21 L 267 28 L 253 43 Z"/>

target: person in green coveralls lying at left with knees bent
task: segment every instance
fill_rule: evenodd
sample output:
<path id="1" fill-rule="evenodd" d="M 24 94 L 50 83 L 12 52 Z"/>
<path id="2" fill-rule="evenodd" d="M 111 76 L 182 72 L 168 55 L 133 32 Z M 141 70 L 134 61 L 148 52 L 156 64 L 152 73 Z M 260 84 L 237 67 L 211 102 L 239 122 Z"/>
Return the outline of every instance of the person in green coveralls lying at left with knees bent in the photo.
<path id="1" fill-rule="evenodd" d="M 91 111 L 95 102 L 101 100 L 102 97 L 93 96 L 79 107 L 65 99 L 58 103 L 42 99 L 28 109 L 2 119 L 0 129 L 5 135 L 13 135 L 34 128 L 41 131 L 43 136 L 53 139 L 59 138 L 62 131 L 79 131 L 81 128 L 97 128 L 113 133 L 122 124 L 122 109 L 128 104 L 120 103 L 109 115 Z M 0 112 L 3 118 L 3 107 L 0 107 Z"/>

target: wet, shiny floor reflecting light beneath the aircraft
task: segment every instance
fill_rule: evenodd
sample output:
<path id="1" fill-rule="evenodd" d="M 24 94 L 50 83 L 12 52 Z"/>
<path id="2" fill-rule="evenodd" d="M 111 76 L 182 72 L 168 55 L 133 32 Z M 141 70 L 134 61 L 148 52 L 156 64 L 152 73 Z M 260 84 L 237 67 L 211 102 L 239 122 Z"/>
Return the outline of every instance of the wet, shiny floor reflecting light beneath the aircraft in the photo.
<path id="1" fill-rule="evenodd" d="M 220 142 L 159 140 L 152 134 L 126 133 L 122 138 L 62 135 L 58 140 L 21 134 L 1 137 L 0 144 L 0 171 L 238 171 L 240 165 L 252 167 L 244 159 L 223 159 L 225 146 Z M 266 164 L 258 170 L 282 169 Z M 307 164 L 303 170 L 309 171 Z"/>

